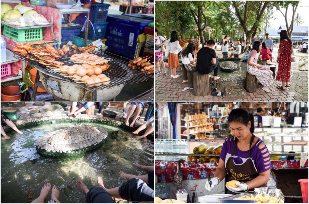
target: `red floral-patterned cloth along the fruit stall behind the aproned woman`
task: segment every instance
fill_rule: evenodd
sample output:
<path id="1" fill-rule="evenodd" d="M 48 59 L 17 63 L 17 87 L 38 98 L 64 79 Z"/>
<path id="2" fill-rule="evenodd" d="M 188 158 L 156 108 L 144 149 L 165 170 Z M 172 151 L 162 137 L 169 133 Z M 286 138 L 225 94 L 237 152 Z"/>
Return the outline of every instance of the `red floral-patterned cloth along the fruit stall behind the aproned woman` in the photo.
<path id="1" fill-rule="evenodd" d="M 271 161 L 272 169 L 300 168 L 299 160 L 276 160 Z M 180 174 L 183 180 L 193 180 L 208 178 L 214 176 L 218 166 L 217 162 L 180 162 Z M 305 163 L 308 167 L 308 160 Z M 158 182 L 173 182 L 174 175 L 177 173 L 177 161 L 155 161 L 155 174 L 158 176 Z"/>

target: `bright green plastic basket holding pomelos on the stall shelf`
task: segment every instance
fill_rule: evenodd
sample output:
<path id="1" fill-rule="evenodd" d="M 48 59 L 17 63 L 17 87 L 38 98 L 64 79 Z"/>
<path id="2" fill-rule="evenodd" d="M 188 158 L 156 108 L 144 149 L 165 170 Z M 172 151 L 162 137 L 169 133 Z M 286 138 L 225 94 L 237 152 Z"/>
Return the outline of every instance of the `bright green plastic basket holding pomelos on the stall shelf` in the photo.
<path id="1" fill-rule="evenodd" d="M 17 42 L 29 42 L 43 40 L 42 28 L 16 29 L 7 25 L 3 27 L 4 36 Z"/>

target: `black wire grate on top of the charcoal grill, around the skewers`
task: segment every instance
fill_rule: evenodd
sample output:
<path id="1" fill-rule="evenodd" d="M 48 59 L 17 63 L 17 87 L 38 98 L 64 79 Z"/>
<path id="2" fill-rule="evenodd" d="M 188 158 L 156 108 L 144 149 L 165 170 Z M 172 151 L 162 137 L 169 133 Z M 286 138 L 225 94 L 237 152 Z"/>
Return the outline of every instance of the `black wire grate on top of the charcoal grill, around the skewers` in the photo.
<path id="1" fill-rule="evenodd" d="M 81 52 L 77 52 L 77 54 L 79 54 Z M 117 59 L 114 56 L 110 56 L 108 54 L 105 54 L 108 52 L 101 52 L 101 53 L 97 53 L 98 56 L 104 57 L 104 58 L 112 58 L 109 59 L 111 61 L 108 62 L 108 64 L 110 65 L 110 67 L 103 71 L 102 73 L 104 73 L 107 77 L 109 77 L 111 80 L 111 82 L 108 85 L 100 85 L 100 86 L 93 86 L 93 87 L 89 87 L 86 84 L 82 84 L 82 83 L 76 83 L 74 80 L 63 77 L 62 75 L 60 75 L 59 73 L 56 72 L 49 72 L 49 70 L 51 70 L 51 68 L 48 68 L 44 65 L 41 65 L 38 61 L 35 60 L 31 60 L 29 58 L 26 58 L 26 56 L 24 55 L 19 55 L 17 53 L 15 53 L 15 57 L 26 61 L 27 63 L 34 65 L 35 68 L 37 70 L 39 70 L 41 73 L 48 75 L 50 77 L 55 77 L 64 81 L 70 81 L 71 83 L 73 83 L 76 86 L 82 87 L 83 89 L 89 90 L 91 92 L 100 89 L 106 89 L 106 88 L 112 88 L 114 86 L 117 85 L 121 85 L 121 84 L 133 84 L 133 83 L 138 83 L 138 82 L 143 82 L 143 81 L 147 81 L 148 78 L 153 78 L 154 74 L 146 74 L 145 72 L 140 72 L 137 70 L 132 70 L 127 66 L 127 62 L 122 61 Z M 31 55 L 30 55 L 31 56 Z M 57 61 L 62 61 L 65 63 L 65 65 L 72 65 L 69 62 L 65 62 L 67 59 L 60 59 Z"/>

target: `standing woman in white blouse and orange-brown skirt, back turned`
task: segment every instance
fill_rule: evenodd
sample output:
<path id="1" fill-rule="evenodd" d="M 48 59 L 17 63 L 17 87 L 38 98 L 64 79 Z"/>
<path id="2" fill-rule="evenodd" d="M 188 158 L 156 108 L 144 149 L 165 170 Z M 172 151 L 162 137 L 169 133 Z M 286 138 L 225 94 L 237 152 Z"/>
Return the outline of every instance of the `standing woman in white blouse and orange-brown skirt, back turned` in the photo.
<path id="1" fill-rule="evenodd" d="M 172 31 L 171 38 L 164 45 L 169 49 L 168 67 L 171 68 L 171 77 L 176 79 L 180 77 L 176 74 L 176 68 L 179 67 L 178 53 L 182 50 L 178 41 L 178 33 Z"/>

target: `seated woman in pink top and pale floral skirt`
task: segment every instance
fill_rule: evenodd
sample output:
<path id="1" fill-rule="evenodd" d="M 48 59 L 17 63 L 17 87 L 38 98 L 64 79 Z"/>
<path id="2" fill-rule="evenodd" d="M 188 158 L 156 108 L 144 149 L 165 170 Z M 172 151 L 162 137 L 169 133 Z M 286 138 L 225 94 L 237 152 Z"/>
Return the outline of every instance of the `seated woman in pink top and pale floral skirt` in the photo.
<path id="1" fill-rule="evenodd" d="M 262 44 L 260 41 L 255 41 L 252 51 L 247 60 L 247 72 L 255 75 L 257 80 L 263 85 L 263 90 L 270 93 L 269 86 L 273 83 L 273 72 L 269 66 L 257 64 L 259 52 L 261 52 Z"/>

